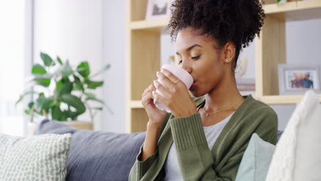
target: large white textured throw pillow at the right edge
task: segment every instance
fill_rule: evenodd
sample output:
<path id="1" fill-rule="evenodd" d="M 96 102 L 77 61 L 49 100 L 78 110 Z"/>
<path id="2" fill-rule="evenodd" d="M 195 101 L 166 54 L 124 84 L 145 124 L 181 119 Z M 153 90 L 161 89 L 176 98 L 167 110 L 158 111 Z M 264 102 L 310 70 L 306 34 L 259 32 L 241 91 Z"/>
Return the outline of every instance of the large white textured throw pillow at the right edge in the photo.
<path id="1" fill-rule="evenodd" d="M 321 105 L 309 90 L 276 145 L 266 181 L 320 181 L 320 128 Z"/>

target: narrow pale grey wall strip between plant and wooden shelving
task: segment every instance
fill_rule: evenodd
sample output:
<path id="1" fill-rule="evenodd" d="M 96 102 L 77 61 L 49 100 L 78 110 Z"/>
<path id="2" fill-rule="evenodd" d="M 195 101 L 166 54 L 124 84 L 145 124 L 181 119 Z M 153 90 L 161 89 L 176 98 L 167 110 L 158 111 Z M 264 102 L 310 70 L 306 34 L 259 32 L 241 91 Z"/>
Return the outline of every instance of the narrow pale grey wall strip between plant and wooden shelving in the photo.
<path id="1" fill-rule="evenodd" d="M 104 80 L 104 101 L 113 114 L 103 112 L 103 130 L 126 132 L 126 0 L 104 1 L 104 62 L 110 70 Z"/>

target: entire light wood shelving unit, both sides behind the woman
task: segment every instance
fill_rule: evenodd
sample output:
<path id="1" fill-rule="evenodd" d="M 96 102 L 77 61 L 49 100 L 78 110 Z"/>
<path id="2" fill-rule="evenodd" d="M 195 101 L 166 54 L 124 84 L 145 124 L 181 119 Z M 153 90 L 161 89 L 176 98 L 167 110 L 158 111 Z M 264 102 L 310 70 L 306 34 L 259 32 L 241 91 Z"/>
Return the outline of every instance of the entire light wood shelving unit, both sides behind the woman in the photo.
<path id="1" fill-rule="evenodd" d="M 285 22 L 321 18 L 321 1 L 263 5 L 267 18 L 255 39 L 256 97 L 267 104 L 296 104 L 302 95 L 278 95 L 277 65 L 285 63 Z M 270 3 L 269 3 L 270 2 Z M 128 0 L 126 47 L 126 132 L 143 132 L 148 121 L 141 105 L 143 90 L 160 69 L 160 34 L 169 19 L 145 21 L 147 0 Z M 264 68 L 264 69 L 263 69 Z M 319 95 L 321 101 L 321 95 Z"/>

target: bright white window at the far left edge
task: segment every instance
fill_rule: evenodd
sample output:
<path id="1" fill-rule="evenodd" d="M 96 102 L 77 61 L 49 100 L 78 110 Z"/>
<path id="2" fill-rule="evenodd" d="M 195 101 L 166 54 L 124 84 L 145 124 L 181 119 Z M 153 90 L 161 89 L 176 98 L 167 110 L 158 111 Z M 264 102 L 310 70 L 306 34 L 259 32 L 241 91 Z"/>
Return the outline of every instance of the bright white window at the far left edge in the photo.
<path id="1" fill-rule="evenodd" d="M 25 106 L 15 104 L 32 66 L 30 22 L 32 1 L 0 1 L 0 133 L 25 136 Z"/>

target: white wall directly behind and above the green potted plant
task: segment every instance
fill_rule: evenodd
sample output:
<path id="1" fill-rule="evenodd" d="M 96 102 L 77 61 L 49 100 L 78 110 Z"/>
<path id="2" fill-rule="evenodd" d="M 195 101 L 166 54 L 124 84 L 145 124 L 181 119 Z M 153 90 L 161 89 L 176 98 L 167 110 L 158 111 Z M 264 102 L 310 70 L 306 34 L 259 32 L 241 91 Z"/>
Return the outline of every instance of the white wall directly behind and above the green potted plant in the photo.
<path id="1" fill-rule="evenodd" d="M 88 60 L 91 72 L 101 69 L 104 59 L 103 0 L 35 0 L 34 59 L 40 51 L 53 58 L 69 59 L 73 66 Z M 102 77 L 100 77 L 102 78 Z M 99 77 L 97 77 L 99 79 Z M 97 90 L 102 97 L 102 90 Z M 79 118 L 88 121 L 85 114 Z M 102 115 L 97 115 L 94 129 L 102 129 Z"/>

